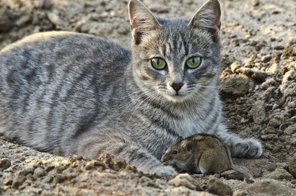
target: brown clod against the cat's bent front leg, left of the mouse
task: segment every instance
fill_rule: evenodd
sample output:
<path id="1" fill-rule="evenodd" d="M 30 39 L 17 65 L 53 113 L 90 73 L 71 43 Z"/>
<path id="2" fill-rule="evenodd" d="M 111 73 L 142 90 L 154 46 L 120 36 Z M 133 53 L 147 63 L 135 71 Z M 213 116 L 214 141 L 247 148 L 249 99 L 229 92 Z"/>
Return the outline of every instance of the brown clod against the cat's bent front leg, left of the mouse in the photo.
<path id="1" fill-rule="evenodd" d="M 110 155 L 108 153 L 100 154 L 96 160 L 106 163 L 110 169 L 115 171 L 119 171 L 119 169 L 125 169 L 127 166 L 126 160 L 124 158 L 116 155 Z"/>

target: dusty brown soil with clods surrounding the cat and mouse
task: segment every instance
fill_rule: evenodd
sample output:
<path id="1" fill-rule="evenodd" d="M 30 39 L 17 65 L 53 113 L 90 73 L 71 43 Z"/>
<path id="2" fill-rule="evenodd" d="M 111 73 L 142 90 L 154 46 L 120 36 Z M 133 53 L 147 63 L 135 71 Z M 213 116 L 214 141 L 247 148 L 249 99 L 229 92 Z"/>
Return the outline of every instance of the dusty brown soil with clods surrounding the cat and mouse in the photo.
<path id="1" fill-rule="evenodd" d="M 0 48 L 32 33 L 67 30 L 130 48 L 128 0 L 0 1 Z M 163 17 L 192 17 L 203 0 L 143 0 Z M 296 194 L 296 2 L 222 0 L 221 95 L 232 132 L 262 141 L 258 159 L 234 159 L 255 180 L 229 170 L 161 179 L 120 157 L 59 157 L 0 140 L 0 195 Z M 58 149 L 56 154 L 58 154 Z"/>

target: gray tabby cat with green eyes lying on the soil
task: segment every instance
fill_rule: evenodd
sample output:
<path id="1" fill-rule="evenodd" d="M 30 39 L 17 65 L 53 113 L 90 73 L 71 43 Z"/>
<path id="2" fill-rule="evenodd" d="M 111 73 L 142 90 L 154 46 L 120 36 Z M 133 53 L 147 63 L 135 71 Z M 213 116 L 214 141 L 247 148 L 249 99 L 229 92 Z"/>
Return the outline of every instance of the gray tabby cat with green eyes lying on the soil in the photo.
<path id="1" fill-rule="evenodd" d="M 132 51 L 92 35 L 31 35 L 0 53 L 0 133 L 52 153 L 120 155 L 170 176 L 160 162 L 179 135 L 215 134 L 233 157 L 256 158 L 260 142 L 222 124 L 218 0 L 192 20 L 155 17 L 129 2 Z"/>

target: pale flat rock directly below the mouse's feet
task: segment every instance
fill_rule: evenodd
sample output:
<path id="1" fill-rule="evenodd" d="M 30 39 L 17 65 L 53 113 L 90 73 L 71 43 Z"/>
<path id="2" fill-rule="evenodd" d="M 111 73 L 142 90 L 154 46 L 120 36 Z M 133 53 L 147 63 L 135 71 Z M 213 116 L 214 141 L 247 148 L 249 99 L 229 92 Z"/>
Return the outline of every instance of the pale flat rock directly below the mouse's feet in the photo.
<path id="1" fill-rule="evenodd" d="M 179 174 L 168 181 L 168 184 L 176 187 L 184 186 L 192 190 L 203 191 L 200 183 L 193 179 L 189 174 Z"/>

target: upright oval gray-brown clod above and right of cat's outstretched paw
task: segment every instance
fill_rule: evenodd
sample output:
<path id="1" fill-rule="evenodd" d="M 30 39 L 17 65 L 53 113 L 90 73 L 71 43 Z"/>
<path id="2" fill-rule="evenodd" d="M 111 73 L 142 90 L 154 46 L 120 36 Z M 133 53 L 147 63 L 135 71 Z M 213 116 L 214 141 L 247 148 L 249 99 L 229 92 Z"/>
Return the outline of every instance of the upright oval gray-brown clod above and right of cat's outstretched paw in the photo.
<path id="1" fill-rule="evenodd" d="M 252 116 L 256 124 L 262 124 L 266 116 L 264 101 L 256 101 L 252 106 L 252 109 L 249 111 L 249 114 Z"/>

